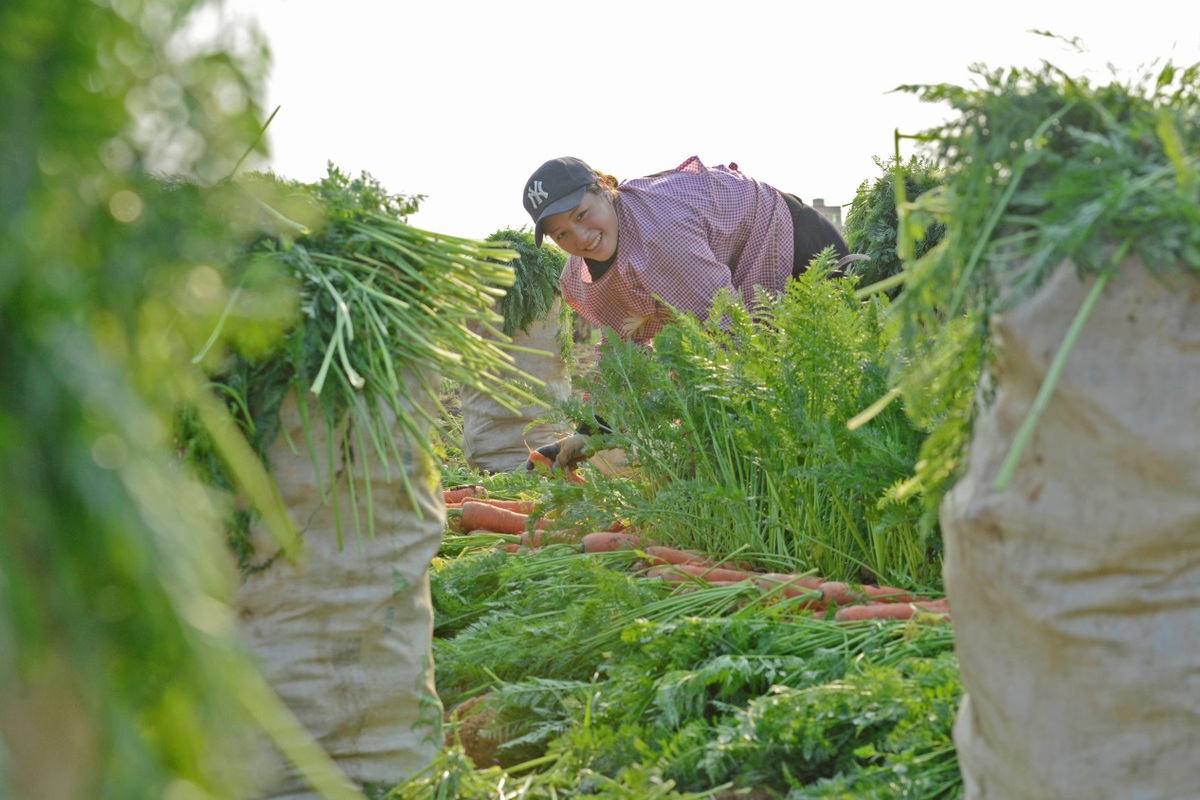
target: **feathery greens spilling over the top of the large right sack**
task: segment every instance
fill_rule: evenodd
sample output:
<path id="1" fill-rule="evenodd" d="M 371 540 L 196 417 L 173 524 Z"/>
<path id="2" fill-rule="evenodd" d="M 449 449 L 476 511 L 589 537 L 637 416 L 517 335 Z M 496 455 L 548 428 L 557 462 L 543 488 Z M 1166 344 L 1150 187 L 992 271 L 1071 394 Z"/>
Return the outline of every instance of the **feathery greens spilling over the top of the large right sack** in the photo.
<path id="1" fill-rule="evenodd" d="M 1060 269 L 1097 276 L 1097 291 L 1127 257 L 1163 275 L 1200 270 L 1200 65 L 1168 61 L 1110 83 L 1049 62 L 973 73 L 970 88 L 901 86 L 954 109 L 917 137 L 944 184 L 900 215 L 901 229 L 906 217 L 936 217 L 944 237 L 906 264 L 890 313 L 899 345 L 890 383 L 917 423 L 932 426 L 912 482 L 931 513 L 961 469 L 977 401 L 988 401 L 977 386 L 994 314 Z M 902 233 L 901 249 L 917 233 Z M 1086 336 L 1086 307 L 1064 313 Z M 1069 350 L 1064 342 L 1057 362 Z"/>

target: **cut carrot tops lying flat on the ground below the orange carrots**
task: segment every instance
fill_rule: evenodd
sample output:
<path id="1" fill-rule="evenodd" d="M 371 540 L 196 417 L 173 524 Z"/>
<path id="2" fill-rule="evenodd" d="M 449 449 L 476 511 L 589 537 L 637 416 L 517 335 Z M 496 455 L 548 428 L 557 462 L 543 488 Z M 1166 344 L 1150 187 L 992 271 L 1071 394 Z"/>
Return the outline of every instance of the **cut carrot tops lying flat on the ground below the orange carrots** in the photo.
<path id="1" fill-rule="evenodd" d="M 390 798 L 961 790 L 946 626 L 847 627 L 722 602 L 734 588 L 672 594 L 566 549 L 439 559 L 433 590 L 439 693 L 486 716 L 456 723 Z M 494 764 L 464 760 L 457 736 L 491 742 Z"/>

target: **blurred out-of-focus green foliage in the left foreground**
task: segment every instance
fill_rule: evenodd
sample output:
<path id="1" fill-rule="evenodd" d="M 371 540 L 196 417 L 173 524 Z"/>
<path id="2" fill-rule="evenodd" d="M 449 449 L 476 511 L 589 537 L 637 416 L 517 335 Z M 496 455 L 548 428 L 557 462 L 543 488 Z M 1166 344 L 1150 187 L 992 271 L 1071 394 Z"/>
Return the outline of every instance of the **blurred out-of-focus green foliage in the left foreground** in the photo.
<path id="1" fill-rule="evenodd" d="M 264 738 L 360 796 L 245 654 L 221 507 L 170 435 L 251 236 L 227 179 L 262 151 L 264 53 L 180 47 L 206 5 L 0 8 L 0 796 L 246 796 Z M 230 342 L 276 336 L 275 287 Z"/>

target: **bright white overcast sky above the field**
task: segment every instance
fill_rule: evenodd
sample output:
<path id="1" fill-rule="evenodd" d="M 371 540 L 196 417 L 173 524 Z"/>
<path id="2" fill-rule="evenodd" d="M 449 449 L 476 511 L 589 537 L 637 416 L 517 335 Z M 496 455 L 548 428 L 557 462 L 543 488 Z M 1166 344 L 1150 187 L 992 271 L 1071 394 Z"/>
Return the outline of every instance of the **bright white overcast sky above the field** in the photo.
<path id="1" fill-rule="evenodd" d="M 272 53 L 269 166 L 326 162 L 425 194 L 418 227 L 482 239 L 530 224 L 526 179 L 577 156 L 619 179 L 697 155 L 811 203 L 848 204 L 946 110 L 901 84 L 973 85 L 972 64 L 1109 80 L 1200 61 L 1200 6 L 971 0 L 223 0 Z M 1044 30 L 1079 38 L 1078 55 Z M 907 157 L 911 145 L 904 145 Z"/>

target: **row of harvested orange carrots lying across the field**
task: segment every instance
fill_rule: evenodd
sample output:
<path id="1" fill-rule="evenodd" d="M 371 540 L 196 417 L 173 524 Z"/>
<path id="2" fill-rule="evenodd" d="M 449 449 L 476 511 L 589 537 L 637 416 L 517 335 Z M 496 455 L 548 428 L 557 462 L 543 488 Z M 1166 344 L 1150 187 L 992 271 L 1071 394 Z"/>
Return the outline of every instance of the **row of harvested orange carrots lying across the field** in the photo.
<path id="1" fill-rule="evenodd" d="M 836 621 L 876 619 L 949 619 L 944 599 L 920 597 L 902 589 L 851 584 L 806 575 L 757 572 L 744 565 L 713 561 L 700 553 L 658 545 L 618 521 L 608 530 L 580 533 L 554 530 L 547 519 L 533 523 L 533 501 L 499 500 L 479 486 L 446 489 L 449 527 L 457 533 L 491 533 L 516 536 L 498 546 L 509 553 L 547 545 L 571 545 L 583 553 L 637 551 L 644 575 L 678 585 L 736 585 L 754 582 L 764 597 L 786 599 L 814 614 L 833 613 Z"/>

